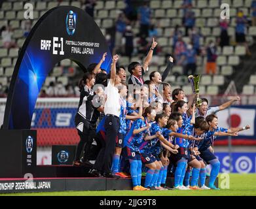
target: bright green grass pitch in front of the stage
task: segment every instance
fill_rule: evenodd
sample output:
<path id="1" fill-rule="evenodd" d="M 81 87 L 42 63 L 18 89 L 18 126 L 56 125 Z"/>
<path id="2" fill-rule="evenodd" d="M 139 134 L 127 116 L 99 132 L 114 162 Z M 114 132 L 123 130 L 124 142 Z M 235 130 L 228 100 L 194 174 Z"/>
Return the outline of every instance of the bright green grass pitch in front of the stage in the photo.
<path id="1" fill-rule="evenodd" d="M 223 182 L 226 181 L 226 182 Z M 33 196 L 256 196 L 256 174 L 229 174 L 230 189 L 202 190 L 202 191 L 65 191 L 48 193 L 15 193 L 5 195 L 33 195 Z M 227 186 L 227 179 L 219 175 L 219 187 Z"/>

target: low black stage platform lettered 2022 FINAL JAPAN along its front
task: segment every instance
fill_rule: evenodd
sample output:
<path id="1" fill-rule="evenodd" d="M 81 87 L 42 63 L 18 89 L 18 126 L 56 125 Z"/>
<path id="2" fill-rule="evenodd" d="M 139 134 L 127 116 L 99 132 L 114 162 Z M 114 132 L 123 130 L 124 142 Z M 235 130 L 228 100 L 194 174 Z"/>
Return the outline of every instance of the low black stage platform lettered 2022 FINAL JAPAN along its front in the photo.
<path id="1" fill-rule="evenodd" d="M 89 167 L 37 166 L 33 180 L 24 178 L 0 178 L 0 193 L 27 193 L 49 191 L 107 191 L 131 190 L 131 178 L 90 178 Z M 142 178 L 141 184 L 145 182 Z M 208 185 L 209 178 L 206 178 Z M 168 177 L 166 185 L 174 186 L 174 177 Z M 218 186 L 218 179 L 215 181 Z"/>

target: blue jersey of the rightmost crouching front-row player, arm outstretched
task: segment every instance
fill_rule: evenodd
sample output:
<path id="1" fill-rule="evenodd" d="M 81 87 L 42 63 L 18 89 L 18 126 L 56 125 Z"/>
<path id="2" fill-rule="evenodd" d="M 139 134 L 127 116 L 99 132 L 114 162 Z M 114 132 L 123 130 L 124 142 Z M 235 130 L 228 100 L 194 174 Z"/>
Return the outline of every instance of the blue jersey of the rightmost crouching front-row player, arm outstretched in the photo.
<path id="1" fill-rule="evenodd" d="M 217 129 L 213 129 L 213 131 L 208 131 L 204 134 L 204 139 L 198 144 L 198 149 L 201 151 L 207 150 L 211 145 L 213 145 L 213 142 L 217 138 L 214 136 L 215 132 L 228 132 L 228 129 L 217 127 Z"/>

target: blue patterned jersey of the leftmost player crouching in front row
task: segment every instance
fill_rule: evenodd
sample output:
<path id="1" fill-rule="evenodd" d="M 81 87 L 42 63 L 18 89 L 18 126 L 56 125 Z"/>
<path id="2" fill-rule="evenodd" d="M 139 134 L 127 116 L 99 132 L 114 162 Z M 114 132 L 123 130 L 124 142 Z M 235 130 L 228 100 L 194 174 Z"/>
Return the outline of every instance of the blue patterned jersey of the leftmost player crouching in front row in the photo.
<path id="1" fill-rule="evenodd" d="M 145 121 L 138 119 L 136 121 L 134 121 L 134 123 L 132 123 L 132 128 L 130 129 L 128 135 L 126 135 L 125 137 L 125 144 L 126 146 L 128 146 L 128 148 L 133 149 L 136 152 L 139 152 L 139 145 L 141 144 L 141 142 L 143 142 L 143 138 L 145 133 L 147 133 L 147 130 L 145 131 L 141 131 L 139 133 L 137 133 L 136 135 L 133 135 L 132 132 L 134 131 L 134 129 L 141 129 L 142 127 L 145 127 L 146 123 Z"/>

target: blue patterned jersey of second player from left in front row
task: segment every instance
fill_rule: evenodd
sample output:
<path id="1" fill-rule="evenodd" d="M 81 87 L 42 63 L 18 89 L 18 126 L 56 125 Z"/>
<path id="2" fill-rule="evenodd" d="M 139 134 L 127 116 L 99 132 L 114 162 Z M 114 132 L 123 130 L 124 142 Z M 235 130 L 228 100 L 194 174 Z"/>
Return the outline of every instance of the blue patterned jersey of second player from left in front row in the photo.
<path id="1" fill-rule="evenodd" d="M 153 123 L 149 129 L 150 135 L 155 135 L 158 131 L 162 134 L 162 129 L 158 125 L 158 123 Z M 141 143 L 139 150 L 141 153 L 151 153 L 154 150 L 154 146 L 156 146 L 159 138 L 153 138 L 151 140 L 147 140 Z"/>

